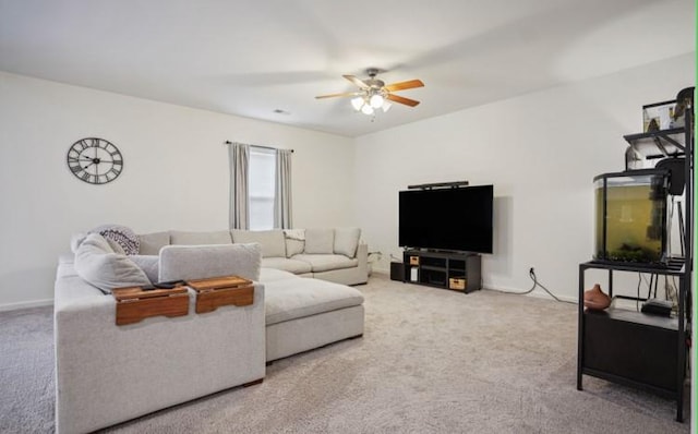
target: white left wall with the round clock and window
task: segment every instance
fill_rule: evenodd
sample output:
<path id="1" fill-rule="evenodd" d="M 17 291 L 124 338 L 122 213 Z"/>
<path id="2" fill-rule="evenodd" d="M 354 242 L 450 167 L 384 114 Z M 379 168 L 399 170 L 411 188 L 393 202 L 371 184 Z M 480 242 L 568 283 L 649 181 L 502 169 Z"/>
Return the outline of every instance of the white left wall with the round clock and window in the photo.
<path id="1" fill-rule="evenodd" d="M 121 149 L 116 181 L 69 171 L 68 148 L 86 136 Z M 297 227 L 357 224 L 349 138 L 0 72 L 0 309 L 52 300 L 73 232 L 227 228 L 226 140 L 296 150 Z"/>

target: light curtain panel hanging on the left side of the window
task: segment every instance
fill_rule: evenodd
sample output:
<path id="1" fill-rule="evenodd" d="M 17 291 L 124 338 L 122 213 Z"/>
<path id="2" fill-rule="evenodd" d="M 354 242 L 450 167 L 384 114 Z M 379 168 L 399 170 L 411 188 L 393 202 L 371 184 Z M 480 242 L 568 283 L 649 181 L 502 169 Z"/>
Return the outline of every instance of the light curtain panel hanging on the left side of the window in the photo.
<path id="1" fill-rule="evenodd" d="M 230 229 L 250 228 L 250 209 L 248 208 L 250 186 L 250 145 L 230 143 L 228 148 L 230 161 Z"/>

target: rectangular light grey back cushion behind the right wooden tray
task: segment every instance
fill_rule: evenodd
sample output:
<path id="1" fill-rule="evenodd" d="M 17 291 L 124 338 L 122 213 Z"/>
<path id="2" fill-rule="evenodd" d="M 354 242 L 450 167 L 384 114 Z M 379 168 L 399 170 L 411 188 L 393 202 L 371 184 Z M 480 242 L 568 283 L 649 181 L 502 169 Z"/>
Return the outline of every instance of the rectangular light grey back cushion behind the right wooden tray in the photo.
<path id="1" fill-rule="evenodd" d="M 260 279 L 260 244 L 166 245 L 160 250 L 159 280 L 240 276 Z"/>

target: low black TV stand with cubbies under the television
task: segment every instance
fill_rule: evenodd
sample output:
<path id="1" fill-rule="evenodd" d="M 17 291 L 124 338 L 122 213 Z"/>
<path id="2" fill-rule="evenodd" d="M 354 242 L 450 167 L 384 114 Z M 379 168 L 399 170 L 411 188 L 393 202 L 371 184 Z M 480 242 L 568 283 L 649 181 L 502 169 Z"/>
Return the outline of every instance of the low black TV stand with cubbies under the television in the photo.
<path id="1" fill-rule="evenodd" d="M 482 261 L 477 253 L 408 249 L 402 262 L 406 282 L 465 293 L 482 289 Z"/>

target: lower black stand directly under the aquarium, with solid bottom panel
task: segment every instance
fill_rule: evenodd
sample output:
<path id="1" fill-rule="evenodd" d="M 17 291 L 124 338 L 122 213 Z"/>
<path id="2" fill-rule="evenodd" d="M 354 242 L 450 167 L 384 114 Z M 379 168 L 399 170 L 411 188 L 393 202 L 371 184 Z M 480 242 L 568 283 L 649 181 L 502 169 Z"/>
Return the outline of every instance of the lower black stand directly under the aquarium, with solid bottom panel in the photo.
<path id="1" fill-rule="evenodd" d="M 688 346 L 686 311 L 690 285 L 684 263 L 674 267 L 636 267 L 594 261 L 579 264 L 577 389 L 582 390 L 582 375 L 643 389 L 676 400 L 676 420 L 683 422 L 684 383 L 687 376 Z M 583 292 L 588 269 L 607 270 L 607 292 L 614 297 L 614 273 L 648 273 L 678 279 L 678 310 L 671 317 L 650 315 L 615 308 L 586 310 Z M 617 299 L 633 299 L 616 297 Z M 642 301 L 640 299 L 638 301 Z"/>

